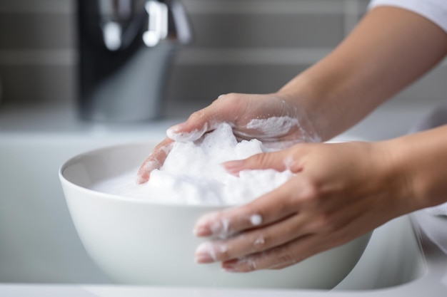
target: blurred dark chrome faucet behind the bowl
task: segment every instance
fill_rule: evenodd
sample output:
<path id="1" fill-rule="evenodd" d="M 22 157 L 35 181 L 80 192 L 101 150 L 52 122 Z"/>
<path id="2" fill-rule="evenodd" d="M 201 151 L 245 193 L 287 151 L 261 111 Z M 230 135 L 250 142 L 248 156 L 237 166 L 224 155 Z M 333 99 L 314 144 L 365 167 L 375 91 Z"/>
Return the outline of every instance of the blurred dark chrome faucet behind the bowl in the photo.
<path id="1" fill-rule="evenodd" d="M 134 122 L 161 117 L 176 51 L 191 42 L 178 0 L 77 0 L 79 115 Z"/>

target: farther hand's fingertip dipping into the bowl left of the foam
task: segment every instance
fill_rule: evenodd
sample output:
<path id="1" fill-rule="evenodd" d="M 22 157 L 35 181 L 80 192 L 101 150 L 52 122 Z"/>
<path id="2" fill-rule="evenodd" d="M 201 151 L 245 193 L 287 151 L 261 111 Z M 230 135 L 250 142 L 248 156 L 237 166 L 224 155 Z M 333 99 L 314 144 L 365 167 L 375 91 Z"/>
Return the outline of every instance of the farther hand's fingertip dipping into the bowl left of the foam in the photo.
<path id="1" fill-rule="evenodd" d="M 151 155 L 144 160 L 136 174 L 137 182 L 139 184 L 144 184 L 149 180 L 152 170 L 160 169 L 160 167 L 163 166 L 164 160 L 166 160 L 166 157 L 171 151 L 173 143 L 173 140 L 166 138 L 160 142 L 151 152 Z"/>

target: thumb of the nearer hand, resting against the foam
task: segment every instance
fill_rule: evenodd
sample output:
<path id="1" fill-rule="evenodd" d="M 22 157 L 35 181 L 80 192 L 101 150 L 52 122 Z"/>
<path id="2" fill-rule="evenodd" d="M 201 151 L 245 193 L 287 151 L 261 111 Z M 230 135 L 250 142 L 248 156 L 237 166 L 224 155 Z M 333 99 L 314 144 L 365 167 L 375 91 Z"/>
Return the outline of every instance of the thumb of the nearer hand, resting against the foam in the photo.
<path id="1" fill-rule="evenodd" d="M 231 174 L 237 175 L 242 170 L 266 170 L 273 169 L 284 171 L 289 169 L 291 157 L 286 150 L 277 152 L 263 152 L 248 157 L 245 160 L 234 160 L 224 162 L 223 166 Z"/>

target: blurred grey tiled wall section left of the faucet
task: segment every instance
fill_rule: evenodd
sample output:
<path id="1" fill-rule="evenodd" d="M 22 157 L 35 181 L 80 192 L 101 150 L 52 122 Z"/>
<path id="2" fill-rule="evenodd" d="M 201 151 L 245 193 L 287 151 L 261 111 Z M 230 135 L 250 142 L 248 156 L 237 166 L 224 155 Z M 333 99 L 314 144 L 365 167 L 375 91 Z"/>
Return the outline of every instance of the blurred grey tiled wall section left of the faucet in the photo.
<path id="1" fill-rule="evenodd" d="M 74 100 L 74 31 L 71 0 L 0 1 L 2 105 Z"/>

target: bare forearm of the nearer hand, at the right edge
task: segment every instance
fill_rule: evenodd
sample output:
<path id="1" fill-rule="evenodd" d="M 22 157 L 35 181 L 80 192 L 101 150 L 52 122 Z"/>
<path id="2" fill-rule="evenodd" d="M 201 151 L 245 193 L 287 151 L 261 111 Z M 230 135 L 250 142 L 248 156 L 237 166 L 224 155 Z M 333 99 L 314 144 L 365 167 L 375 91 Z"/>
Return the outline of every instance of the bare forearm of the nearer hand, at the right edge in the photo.
<path id="1" fill-rule="evenodd" d="M 382 144 L 391 157 L 390 174 L 403 185 L 401 209 L 411 212 L 447 202 L 447 125 Z"/>

